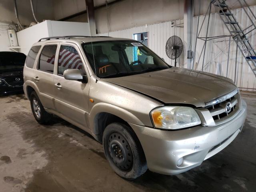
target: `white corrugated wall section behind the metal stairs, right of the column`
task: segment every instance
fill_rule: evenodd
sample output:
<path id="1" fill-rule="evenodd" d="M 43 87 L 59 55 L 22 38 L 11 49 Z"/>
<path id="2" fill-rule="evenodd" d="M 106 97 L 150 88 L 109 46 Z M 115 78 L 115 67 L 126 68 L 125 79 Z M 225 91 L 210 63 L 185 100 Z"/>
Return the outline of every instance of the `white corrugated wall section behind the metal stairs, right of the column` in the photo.
<path id="1" fill-rule="evenodd" d="M 253 10 L 254 14 L 256 14 L 256 6 L 252 6 L 251 9 Z M 242 29 L 252 24 L 249 18 L 246 16 L 245 11 L 242 8 L 232 10 L 232 13 L 234 14 L 234 17 L 239 22 Z M 200 16 L 199 28 L 202 24 L 203 19 L 204 19 L 204 16 Z M 208 20 L 208 16 L 206 16 L 206 20 L 202 27 L 202 31 L 200 33 L 201 37 L 206 36 L 207 20 Z M 198 21 L 197 17 L 193 18 L 193 26 L 194 26 L 193 36 L 194 37 L 196 37 L 197 21 Z M 256 31 L 254 30 L 254 32 L 247 35 L 253 48 L 256 48 L 255 34 L 256 34 Z M 225 24 L 223 23 L 223 21 L 220 19 L 219 14 L 218 13 L 211 14 L 208 37 L 220 36 L 220 35 L 230 35 L 230 34 Z M 204 71 L 226 76 L 227 62 L 228 62 L 228 43 L 229 43 L 229 37 L 207 41 L 206 54 L 205 54 L 205 60 L 204 60 Z M 193 49 L 194 49 L 194 44 L 195 44 L 195 41 L 193 40 L 193 46 L 192 46 Z M 195 54 L 196 62 L 198 62 L 203 45 L 204 45 L 204 41 L 198 39 L 196 54 Z M 202 56 L 200 58 L 200 61 L 198 62 L 198 67 L 196 68 L 196 70 L 202 70 L 203 54 L 204 53 L 202 53 Z M 232 80 L 235 80 L 235 66 L 236 66 L 236 43 L 231 38 L 230 56 L 229 56 L 229 64 L 228 64 L 228 78 L 231 78 Z M 256 78 L 239 49 L 238 49 L 238 56 L 237 56 L 236 84 L 238 85 L 238 87 L 256 88 Z"/>

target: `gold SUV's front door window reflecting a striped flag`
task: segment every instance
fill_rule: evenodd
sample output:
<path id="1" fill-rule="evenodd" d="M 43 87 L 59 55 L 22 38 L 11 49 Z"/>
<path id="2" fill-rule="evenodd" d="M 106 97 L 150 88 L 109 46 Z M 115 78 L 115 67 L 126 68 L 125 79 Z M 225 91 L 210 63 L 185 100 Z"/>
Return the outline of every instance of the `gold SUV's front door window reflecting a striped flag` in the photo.
<path id="1" fill-rule="evenodd" d="M 58 74 L 63 75 L 66 69 L 82 70 L 82 60 L 73 46 L 60 46 L 60 54 L 58 60 Z"/>

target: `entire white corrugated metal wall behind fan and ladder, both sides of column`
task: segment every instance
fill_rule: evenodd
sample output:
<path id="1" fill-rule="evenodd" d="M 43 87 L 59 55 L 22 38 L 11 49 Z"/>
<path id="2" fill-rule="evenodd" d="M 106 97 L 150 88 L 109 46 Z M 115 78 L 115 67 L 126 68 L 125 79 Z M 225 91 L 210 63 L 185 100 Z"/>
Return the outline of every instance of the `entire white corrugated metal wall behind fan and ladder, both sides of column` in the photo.
<path id="1" fill-rule="evenodd" d="M 256 14 L 256 6 L 251 7 L 254 14 Z M 246 16 L 246 13 L 242 8 L 232 10 L 237 21 L 240 23 L 242 27 L 246 27 L 250 25 L 250 20 Z M 200 16 L 199 20 L 199 28 L 202 24 L 204 16 Z M 192 50 L 194 50 L 195 40 L 196 40 L 196 26 L 197 26 L 197 17 L 193 18 L 193 38 L 192 38 Z M 207 20 L 208 16 L 206 16 L 206 21 L 202 26 L 202 31 L 200 36 L 206 36 L 207 29 Z M 176 25 L 183 23 L 183 20 L 176 20 Z M 151 24 L 146 26 L 139 26 L 134 28 L 129 28 L 125 30 L 118 30 L 109 33 L 99 34 L 104 36 L 112 36 L 112 37 L 121 37 L 121 38 L 133 38 L 133 34 L 148 32 L 148 47 L 152 49 L 156 54 L 160 57 L 164 58 L 164 60 L 174 65 L 174 60 L 171 60 L 167 57 L 165 52 L 165 45 L 168 38 L 173 35 L 179 36 L 182 40 L 184 39 L 183 28 L 182 27 L 171 27 L 171 21 L 162 22 L 158 24 Z M 250 34 L 250 42 L 252 46 L 255 47 L 256 31 Z M 219 35 L 229 35 L 226 26 L 220 19 L 220 16 L 217 13 L 211 14 L 210 16 L 210 24 L 208 30 L 208 36 L 219 36 Z M 204 60 L 204 71 L 211 72 L 214 74 L 220 74 L 222 76 L 226 76 L 226 68 L 228 61 L 228 42 L 229 38 L 221 38 L 216 40 L 211 40 L 207 42 L 206 46 L 206 54 Z M 196 52 L 195 52 L 195 62 L 198 62 L 199 55 L 203 48 L 204 41 L 198 40 Z M 184 54 L 184 52 L 183 52 Z M 180 67 L 183 67 L 183 58 L 184 55 L 181 55 L 179 58 Z M 231 38 L 231 46 L 230 46 L 230 59 L 229 59 L 229 67 L 228 67 L 228 77 L 234 80 L 235 78 L 235 63 L 236 63 L 236 43 Z M 179 66 L 178 64 L 178 66 Z M 194 66 L 195 67 L 195 66 Z M 219 67 L 219 68 L 218 68 Z M 196 70 L 202 69 L 202 57 L 198 62 Z M 238 49 L 238 57 L 237 57 L 237 74 L 236 74 L 236 84 L 239 87 L 244 88 L 254 88 L 256 89 L 256 78 L 248 66 L 247 62 L 244 60 L 242 53 Z M 247 90 L 247 89 L 244 89 Z M 251 91 L 251 90 L 249 90 Z"/>

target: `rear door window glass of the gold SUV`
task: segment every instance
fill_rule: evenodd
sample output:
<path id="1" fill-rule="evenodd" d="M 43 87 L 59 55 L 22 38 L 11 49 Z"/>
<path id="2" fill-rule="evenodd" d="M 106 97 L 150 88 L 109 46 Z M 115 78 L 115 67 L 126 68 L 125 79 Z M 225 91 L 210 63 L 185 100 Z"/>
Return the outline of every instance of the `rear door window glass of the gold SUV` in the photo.
<path id="1" fill-rule="evenodd" d="M 40 54 L 38 69 L 53 73 L 57 45 L 46 45 Z"/>

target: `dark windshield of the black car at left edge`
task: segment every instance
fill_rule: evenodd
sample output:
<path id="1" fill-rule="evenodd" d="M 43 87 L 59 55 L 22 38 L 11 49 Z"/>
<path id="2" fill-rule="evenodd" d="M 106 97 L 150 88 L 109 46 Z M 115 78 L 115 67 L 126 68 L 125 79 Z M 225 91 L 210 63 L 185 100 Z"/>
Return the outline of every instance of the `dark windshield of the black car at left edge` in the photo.
<path id="1" fill-rule="evenodd" d="M 26 55 L 16 52 L 0 52 L 0 70 L 22 70 Z"/>

